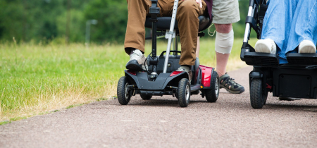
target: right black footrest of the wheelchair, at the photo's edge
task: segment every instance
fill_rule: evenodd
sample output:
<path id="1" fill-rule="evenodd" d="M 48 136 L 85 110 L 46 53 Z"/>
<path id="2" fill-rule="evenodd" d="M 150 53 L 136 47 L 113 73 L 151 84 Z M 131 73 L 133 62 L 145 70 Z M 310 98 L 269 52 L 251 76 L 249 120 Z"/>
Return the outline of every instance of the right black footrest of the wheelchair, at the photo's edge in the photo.
<path id="1" fill-rule="evenodd" d="M 289 53 L 286 55 L 290 64 L 296 65 L 317 65 L 317 54 Z"/>

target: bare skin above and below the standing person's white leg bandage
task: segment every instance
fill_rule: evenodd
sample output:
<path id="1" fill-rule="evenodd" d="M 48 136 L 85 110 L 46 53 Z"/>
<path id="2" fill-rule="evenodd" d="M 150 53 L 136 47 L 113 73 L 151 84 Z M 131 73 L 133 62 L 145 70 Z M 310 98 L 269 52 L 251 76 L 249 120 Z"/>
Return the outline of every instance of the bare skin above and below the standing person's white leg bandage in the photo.
<path id="1" fill-rule="evenodd" d="M 229 33 L 232 30 L 232 24 L 215 24 L 215 27 L 216 31 L 220 33 Z M 219 77 L 225 75 L 229 56 L 230 54 L 220 54 L 216 52 L 216 71 Z"/>

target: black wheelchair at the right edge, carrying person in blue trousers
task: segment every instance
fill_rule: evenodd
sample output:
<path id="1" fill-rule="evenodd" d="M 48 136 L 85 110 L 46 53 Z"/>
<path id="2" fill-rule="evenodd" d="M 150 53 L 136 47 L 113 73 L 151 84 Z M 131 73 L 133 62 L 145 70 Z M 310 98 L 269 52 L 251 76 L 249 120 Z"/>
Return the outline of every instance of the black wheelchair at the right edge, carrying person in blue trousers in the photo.
<path id="1" fill-rule="evenodd" d="M 249 0 L 240 58 L 254 67 L 249 73 L 251 106 L 261 109 L 266 104 L 268 92 L 272 92 L 273 97 L 316 99 L 317 54 L 288 53 L 288 63 L 280 64 L 277 54 L 256 53 L 248 44 L 251 28 L 261 39 L 267 8 L 265 0 Z"/>

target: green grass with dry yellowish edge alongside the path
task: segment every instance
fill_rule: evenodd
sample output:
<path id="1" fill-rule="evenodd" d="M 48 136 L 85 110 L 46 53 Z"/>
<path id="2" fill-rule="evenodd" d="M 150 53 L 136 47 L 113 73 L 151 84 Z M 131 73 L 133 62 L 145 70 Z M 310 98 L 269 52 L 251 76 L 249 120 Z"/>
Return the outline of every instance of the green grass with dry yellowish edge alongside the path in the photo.
<path id="1" fill-rule="evenodd" d="M 252 41 L 254 42 L 254 41 Z M 240 68 L 242 39 L 235 39 L 230 56 Z M 166 42 L 158 43 L 158 54 Z M 151 50 L 146 45 L 146 55 Z M 118 79 L 124 75 L 129 56 L 123 45 L 0 44 L 1 120 L 32 116 L 88 101 L 116 96 Z M 216 66 L 213 39 L 201 40 L 200 62 Z"/>

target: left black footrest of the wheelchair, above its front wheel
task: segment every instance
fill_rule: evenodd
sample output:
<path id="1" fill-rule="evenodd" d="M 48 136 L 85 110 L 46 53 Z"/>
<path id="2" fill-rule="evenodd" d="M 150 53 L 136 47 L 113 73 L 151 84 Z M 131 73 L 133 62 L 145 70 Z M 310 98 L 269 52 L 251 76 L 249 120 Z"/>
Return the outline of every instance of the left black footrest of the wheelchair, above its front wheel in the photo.
<path id="1" fill-rule="evenodd" d="M 278 60 L 277 54 L 268 53 L 256 53 L 256 52 L 245 52 L 244 61 L 250 66 L 279 66 L 280 61 Z"/>

